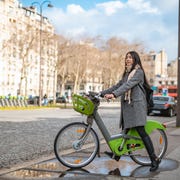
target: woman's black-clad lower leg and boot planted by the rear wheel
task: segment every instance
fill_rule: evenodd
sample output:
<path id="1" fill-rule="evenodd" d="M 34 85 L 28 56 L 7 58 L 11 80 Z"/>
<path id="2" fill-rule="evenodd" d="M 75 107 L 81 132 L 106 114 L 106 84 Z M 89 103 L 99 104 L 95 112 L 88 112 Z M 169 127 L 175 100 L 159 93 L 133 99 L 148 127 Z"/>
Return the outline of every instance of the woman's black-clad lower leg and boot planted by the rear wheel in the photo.
<path id="1" fill-rule="evenodd" d="M 149 136 L 143 137 L 142 140 L 144 142 L 146 150 L 147 150 L 149 157 L 151 159 L 150 171 L 156 171 L 159 167 L 161 160 L 159 158 L 157 158 L 157 156 L 154 153 L 154 147 L 153 147 L 153 144 L 152 144 L 150 137 Z"/>

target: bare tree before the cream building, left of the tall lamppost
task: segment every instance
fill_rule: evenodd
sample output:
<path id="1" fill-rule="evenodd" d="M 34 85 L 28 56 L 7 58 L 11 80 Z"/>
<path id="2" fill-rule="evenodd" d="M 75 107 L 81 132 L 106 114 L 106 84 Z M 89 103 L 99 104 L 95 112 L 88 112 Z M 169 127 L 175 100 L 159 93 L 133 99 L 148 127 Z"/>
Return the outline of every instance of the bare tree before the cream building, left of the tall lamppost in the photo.
<path id="1" fill-rule="evenodd" d="M 19 94 L 27 95 L 27 68 L 33 63 L 30 60 L 30 54 L 32 49 L 37 49 L 36 39 L 37 39 L 37 30 L 30 26 L 26 25 L 24 29 L 18 29 L 17 27 L 12 27 L 9 39 L 5 40 L 3 43 L 3 49 L 13 49 L 13 53 L 16 54 L 20 59 L 21 70 L 20 70 L 20 80 L 19 80 Z M 7 52 L 7 51 L 6 51 Z M 12 53 L 12 50 L 8 51 Z M 25 91 L 22 91 L 22 83 L 24 81 Z"/>

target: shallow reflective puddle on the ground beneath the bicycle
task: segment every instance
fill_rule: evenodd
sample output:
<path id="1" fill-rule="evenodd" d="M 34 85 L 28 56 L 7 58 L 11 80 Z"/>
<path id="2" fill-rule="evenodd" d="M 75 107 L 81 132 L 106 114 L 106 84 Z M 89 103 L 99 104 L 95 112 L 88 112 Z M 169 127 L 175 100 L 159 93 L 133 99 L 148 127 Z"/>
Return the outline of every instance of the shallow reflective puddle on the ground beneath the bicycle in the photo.
<path id="1" fill-rule="evenodd" d="M 150 172 L 149 166 L 139 166 L 129 157 L 123 156 L 118 162 L 108 157 L 96 158 L 91 164 L 83 169 L 67 169 L 56 159 L 44 161 L 32 166 L 4 174 L 6 179 L 39 179 L 61 177 L 90 177 L 98 175 L 113 175 L 118 177 L 144 178 L 153 177 L 162 171 L 171 171 L 178 167 L 178 162 L 171 159 L 163 159 L 156 172 Z"/>

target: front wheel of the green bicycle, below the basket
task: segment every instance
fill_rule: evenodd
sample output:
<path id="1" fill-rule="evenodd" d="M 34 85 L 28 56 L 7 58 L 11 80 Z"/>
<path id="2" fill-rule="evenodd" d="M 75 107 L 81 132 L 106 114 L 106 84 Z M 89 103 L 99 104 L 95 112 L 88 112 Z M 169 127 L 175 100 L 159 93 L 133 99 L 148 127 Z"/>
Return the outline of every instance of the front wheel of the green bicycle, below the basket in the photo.
<path id="1" fill-rule="evenodd" d="M 99 139 L 91 128 L 87 136 L 87 125 L 75 122 L 64 126 L 54 141 L 57 159 L 69 168 L 81 168 L 88 165 L 99 150 Z"/>

